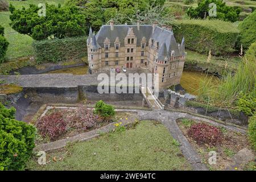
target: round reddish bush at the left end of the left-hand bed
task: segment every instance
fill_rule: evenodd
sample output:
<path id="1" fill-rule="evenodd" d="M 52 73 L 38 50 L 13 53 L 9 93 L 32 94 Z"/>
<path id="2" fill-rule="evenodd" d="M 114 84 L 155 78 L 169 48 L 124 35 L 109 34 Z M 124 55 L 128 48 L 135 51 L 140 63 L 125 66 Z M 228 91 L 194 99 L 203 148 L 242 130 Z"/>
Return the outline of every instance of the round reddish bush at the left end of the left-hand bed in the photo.
<path id="1" fill-rule="evenodd" d="M 36 127 L 39 134 L 44 138 L 49 137 L 51 140 L 56 140 L 61 135 L 66 133 L 67 122 L 64 121 L 61 113 L 52 113 L 42 117 Z"/>

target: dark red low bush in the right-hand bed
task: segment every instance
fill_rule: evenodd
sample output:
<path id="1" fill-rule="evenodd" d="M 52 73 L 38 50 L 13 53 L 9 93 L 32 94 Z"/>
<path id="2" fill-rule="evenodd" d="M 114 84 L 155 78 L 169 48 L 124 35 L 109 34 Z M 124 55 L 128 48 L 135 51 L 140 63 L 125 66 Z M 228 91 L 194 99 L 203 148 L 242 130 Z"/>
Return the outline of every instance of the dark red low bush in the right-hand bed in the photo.
<path id="1" fill-rule="evenodd" d="M 196 123 L 188 130 L 188 136 L 198 144 L 209 144 L 216 146 L 222 142 L 221 130 L 205 123 Z"/>

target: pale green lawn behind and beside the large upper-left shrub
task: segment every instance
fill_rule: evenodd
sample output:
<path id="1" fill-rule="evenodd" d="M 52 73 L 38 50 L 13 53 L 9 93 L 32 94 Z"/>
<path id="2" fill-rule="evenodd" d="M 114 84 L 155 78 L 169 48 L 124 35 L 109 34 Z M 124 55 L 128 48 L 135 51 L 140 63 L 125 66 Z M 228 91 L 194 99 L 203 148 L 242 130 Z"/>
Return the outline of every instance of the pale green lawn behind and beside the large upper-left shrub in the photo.
<path id="1" fill-rule="evenodd" d="M 57 1 L 45 1 L 45 0 L 27 0 L 27 1 L 7 1 L 13 3 L 13 5 L 20 9 L 22 6 L 29 7 L 30 4 L 38 5 L 40 2 L 48 2 L 57 5 L 58 3 L 63 4 L 65 0 Z M 10 12 L 0 12 L 0 22 L 1 26 L 5 27 L 5 37 L 7 38 L 9 44 L 7 50 L 7 59 L 13 60 L 19 57 L 31 56 L 32 52 L 32 38 L 28 35 L 22 35 L 13 30 L 10 27 Z"/>

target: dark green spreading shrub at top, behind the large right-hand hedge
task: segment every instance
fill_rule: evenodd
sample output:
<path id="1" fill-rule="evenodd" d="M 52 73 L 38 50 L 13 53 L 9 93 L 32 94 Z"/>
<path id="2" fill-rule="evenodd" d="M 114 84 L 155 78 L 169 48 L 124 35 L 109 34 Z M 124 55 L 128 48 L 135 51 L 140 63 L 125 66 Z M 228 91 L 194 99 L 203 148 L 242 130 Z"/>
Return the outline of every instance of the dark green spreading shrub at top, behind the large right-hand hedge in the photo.
<path id="1" fill-rule="evenodd" d="M 209 7 L 210 3 L 215 3 L 217 6 L 216 16 L 209 16 L 209 10 L 212 7 Z M 226 3 L 223 0 L 203 0 L 198 3 L 197 7 L 190 7 L 187 10 L 187 14 L 191 18 L 209 18 L 209 19 L 221 19 L 229 22 L 236 22 L 241 13 L 240 8 L 226 6 Z"/>

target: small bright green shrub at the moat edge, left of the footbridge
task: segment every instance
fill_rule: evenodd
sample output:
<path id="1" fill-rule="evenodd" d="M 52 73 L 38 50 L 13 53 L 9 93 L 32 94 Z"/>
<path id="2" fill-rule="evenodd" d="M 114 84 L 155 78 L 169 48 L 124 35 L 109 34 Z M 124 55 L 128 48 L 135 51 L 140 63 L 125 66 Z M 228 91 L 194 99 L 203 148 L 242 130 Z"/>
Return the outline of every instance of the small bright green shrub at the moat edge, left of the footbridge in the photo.
<path id="1" fill-rule="evenodd" d="M 115 115 L 114 107 L 105 104 L 103 101 L 98 101 L 95 105 L 95 113 L 104 118 L 112 118 Z"/>

